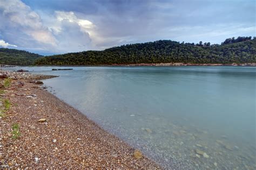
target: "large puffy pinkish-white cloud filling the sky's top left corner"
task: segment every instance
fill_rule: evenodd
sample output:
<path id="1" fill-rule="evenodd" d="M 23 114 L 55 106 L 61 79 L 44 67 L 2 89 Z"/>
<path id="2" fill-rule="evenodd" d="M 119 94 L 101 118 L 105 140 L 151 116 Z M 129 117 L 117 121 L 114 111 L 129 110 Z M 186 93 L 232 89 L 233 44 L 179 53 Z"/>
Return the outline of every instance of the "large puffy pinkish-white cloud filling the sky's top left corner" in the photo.
<path id="1" fill-rule="evenodd" d="M 0 15 L 5 19 L 5 25 L 0 29 L 8 32 L 5 26 L 21 31 L 26 36 L 41 44 L 56 45 L 56 39 L 42 23 L 39 15 L 30 7 L 19 0 L 0 0 Z"/>

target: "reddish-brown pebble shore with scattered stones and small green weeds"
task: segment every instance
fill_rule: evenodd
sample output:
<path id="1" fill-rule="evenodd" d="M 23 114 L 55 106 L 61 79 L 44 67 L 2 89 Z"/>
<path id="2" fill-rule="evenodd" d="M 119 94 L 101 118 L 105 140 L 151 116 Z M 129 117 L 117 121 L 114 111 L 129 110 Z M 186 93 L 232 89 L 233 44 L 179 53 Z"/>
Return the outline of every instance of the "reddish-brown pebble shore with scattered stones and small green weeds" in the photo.
<path id="1" fill-rule="evenodd" d="M 48 93 L 41 82 L 31 81 L 49 76 L 8 76 L 13 78 L 10 86 L 1 86 L 0 169 L 160 168 Z M 42 118 L 46 121 L 39 123 Z"/>

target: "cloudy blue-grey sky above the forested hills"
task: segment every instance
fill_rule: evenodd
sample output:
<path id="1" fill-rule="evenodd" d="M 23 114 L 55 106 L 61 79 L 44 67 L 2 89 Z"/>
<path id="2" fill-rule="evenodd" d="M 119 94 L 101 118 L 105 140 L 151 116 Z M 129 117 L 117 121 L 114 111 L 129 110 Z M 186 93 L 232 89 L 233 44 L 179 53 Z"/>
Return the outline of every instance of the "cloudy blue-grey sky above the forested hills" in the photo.
<path id="1" fill-rule="evenodd" d="M 42 55 L 256 36 L 254 0 L 0 0 L 0 47 Z"/>

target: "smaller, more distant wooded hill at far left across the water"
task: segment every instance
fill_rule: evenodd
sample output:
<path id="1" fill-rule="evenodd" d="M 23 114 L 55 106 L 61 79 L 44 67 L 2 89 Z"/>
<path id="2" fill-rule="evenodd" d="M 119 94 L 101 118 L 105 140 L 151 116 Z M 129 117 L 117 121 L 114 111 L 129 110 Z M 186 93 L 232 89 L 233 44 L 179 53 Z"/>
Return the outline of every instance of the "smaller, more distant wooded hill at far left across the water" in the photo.
<path id="1" fill-rule="evenodd" d="M 0 48 L 1 65 L 29 66 L 33 65 L 35 60 L 41 56 L 17 49 Z"/>

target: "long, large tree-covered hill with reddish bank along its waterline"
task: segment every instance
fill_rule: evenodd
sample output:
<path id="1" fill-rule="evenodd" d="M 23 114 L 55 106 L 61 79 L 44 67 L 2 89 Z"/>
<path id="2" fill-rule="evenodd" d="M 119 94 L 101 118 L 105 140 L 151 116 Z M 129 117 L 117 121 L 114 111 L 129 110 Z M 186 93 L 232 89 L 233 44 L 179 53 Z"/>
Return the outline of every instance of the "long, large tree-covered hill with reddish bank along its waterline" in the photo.
<path id="1" fill-rule="evenodd" d="M 231 39 L 232 40 L 232 39 Z M 256 39 L 225 41 L 221 45 L 159 40 L 39 58 L 36 65 L 112 65 L 132 63 L 246 63 L 256 62 Z"/>

